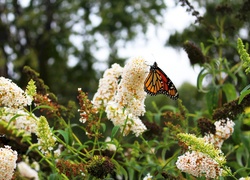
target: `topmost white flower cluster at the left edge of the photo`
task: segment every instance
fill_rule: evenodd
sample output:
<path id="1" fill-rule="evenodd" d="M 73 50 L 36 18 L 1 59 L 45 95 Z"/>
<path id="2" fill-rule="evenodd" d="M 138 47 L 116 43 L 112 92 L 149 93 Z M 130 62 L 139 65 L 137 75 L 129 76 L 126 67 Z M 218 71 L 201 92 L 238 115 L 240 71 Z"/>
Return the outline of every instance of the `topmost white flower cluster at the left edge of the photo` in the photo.
<path id="1" fill-rule="evenodd" d="M 0 106 L 19 108 L 31 105 L 32 97 L 27 95 L 10 79 L 0 77 Z"/>

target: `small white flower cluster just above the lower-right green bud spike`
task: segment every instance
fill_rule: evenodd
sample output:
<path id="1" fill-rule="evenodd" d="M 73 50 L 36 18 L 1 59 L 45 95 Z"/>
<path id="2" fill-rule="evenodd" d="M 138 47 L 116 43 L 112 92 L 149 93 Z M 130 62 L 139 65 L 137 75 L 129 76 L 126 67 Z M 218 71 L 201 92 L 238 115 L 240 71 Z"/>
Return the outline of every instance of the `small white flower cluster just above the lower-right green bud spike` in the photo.
<path id="1" fill-rule="evenodd" d="M 216 128 L 215 134 L 207 134 L 204 136 L 204 139 L 220 149 L 223 142 L 233 134 L 235 123 L 227 118 L 226 120 L 216 121 L 214 125 Z"/>

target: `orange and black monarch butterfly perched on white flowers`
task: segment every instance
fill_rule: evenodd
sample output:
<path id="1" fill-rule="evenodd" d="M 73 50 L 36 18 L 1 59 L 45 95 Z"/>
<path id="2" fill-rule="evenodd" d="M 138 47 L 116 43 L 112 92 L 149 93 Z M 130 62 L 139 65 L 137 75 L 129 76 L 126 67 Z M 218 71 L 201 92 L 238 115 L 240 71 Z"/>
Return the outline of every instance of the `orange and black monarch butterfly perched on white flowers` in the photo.
<path id="1" fill-rule="evenodd" d="M 144 90 L 151 96 L 165 94 L 171 99 L 178 99 L 179 93 L 169 77 L 154 62 L 144 82 Z"/>

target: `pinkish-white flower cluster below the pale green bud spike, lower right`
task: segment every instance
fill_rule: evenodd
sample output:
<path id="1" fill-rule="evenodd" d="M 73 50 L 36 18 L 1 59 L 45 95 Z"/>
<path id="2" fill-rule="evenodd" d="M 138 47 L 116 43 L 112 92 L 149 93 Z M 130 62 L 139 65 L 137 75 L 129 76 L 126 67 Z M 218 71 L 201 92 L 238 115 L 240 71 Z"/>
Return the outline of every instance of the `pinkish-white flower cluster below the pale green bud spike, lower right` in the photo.
<path id="1" fill-rule="evenodd" d="M 201 152 L 186 152 L 178 157 L 176 166 L 183 172 L 192 174 L 193 176 L 206 178 L 216 178 L 221 175 L 222 169 L 219 164 Z"/>

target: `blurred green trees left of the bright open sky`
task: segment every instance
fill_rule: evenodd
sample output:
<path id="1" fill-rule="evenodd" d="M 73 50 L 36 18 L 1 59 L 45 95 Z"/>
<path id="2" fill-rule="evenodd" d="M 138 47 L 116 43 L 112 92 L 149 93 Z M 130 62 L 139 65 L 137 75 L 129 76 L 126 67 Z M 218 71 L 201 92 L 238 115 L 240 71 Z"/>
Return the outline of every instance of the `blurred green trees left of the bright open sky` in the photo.
<path id="1" fill-rule="evenodd" d="M 145 34 L 149 23 L 160 25 L 165 11 L 164 0 L 0 1 L 0 75 L 25 86 L 28 65 L 60 102 L 75 99 L 78 87 L 91 95 L 99 67 L 123 65 L 118 48 Z M 103 47 L 108 58 L 100 61 Z"/>

